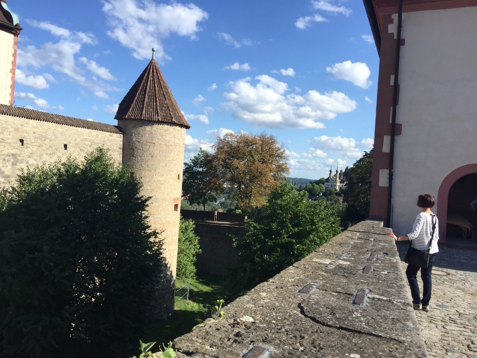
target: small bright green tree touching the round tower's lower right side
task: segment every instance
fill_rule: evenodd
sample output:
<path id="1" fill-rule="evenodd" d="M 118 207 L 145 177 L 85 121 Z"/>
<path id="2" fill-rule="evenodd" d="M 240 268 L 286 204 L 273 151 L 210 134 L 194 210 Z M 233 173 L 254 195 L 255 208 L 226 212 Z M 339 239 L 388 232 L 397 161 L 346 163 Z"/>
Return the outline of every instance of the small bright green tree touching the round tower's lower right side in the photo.
<path id="1" fill-rule="evenodd" d="M 199 237 L 194 233 L 194 222 L 184 220 L 179 222 L 179 245 L 177 249 L 177 276 L 184 279 L 196 277 L 195 261 L 197 254 L 202 250 L 199 246 Z"/>

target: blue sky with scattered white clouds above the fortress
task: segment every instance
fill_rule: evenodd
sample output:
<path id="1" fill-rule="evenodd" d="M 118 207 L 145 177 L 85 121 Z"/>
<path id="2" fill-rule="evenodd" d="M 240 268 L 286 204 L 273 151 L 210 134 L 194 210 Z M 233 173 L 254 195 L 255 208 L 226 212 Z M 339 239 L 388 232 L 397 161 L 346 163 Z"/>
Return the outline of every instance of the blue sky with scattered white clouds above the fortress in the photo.
<path id="1" fill-rule="evenodd" d="M 20 20 L 15 105 L 117 124 L 156 61 L 192 126 L 276 136 L 290 176 L 327 177 L 372 148 L 379 58 L 361 0 L 9 0 Z"/>

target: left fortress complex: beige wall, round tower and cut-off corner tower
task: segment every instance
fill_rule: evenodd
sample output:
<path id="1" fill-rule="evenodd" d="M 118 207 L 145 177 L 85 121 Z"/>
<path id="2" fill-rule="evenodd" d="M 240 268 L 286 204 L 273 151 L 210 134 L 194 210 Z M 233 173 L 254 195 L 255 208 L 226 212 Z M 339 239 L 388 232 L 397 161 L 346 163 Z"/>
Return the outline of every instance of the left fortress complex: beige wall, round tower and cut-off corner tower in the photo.
<path id="1" fill-rule="evenodd" d="M 119 104 L 117 125 L 15 107 L 18 17 L 0 0 L 0 188 L 14 184 L 22 169 L 42 163 L 81 160 L 104 147 L 131 168 L 150 196 L 152 229 L 162 232 L 169 275 L 162 282 L 158 318 L 174 308 L 185 132 L 190 128 L 154 59 Z"/>

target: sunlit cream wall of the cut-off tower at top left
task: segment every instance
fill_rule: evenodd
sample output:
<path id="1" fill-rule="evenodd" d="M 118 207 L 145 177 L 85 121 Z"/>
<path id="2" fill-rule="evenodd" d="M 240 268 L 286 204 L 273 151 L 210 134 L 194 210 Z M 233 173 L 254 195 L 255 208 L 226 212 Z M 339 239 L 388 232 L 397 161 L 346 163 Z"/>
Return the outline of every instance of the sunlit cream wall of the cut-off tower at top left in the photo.
<path id="1" fill-rule="evenodd" d="M 0 31 L 0 104 L 10 104 L 14 36 Z"/>

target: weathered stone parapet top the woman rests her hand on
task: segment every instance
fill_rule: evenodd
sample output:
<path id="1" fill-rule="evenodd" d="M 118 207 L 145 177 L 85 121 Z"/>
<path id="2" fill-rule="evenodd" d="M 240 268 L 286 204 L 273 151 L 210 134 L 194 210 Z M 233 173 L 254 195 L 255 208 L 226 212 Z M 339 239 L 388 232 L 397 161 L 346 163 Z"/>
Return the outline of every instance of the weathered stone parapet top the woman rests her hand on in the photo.
<path id="1" fill-rule="evenodd" d="M 174 341 L 177 357 L 427 357 L 396 244 L 363 221 Z"/>

